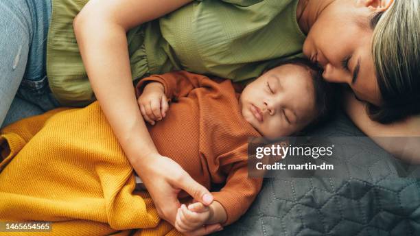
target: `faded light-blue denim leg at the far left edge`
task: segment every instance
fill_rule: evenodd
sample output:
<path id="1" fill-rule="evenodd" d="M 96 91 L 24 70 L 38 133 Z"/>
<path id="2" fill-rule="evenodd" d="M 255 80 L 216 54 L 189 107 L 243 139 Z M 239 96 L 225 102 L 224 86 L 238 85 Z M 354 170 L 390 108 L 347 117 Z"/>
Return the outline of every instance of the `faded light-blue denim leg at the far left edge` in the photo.
<path id="1" fill-rule="evenodd" d="M 25 73 L 32 19 L 25 0 L 0 1 L 0 124 Z"/>

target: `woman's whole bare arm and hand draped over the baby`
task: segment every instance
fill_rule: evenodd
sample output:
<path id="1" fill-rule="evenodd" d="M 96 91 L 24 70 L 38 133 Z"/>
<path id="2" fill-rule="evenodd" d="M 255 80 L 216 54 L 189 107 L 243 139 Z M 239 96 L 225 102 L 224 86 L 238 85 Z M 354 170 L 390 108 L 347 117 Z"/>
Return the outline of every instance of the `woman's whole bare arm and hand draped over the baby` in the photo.
<path id="1" fill-rule="evenodd" d="M 210 204 L 213 198 L 177 163 L 158 154 L 135 97 L 126 32 L 189 1 L 91 0 L 73 21 L 95 96 L 159 215 L 172 224 L 181 189 L 203 204 Z"/>

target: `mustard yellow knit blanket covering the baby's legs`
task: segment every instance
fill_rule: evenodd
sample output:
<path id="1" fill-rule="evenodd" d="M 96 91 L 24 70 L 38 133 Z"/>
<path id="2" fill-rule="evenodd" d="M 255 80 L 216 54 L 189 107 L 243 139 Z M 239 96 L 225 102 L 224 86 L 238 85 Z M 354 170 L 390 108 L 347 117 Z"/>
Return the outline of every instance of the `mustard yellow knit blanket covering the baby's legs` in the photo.
<path id="1" fill-rule="evenodd" d="M 52 222 L 42 235 L 180 235 L 147 192 L 133 192 L 132 167 L 97 102 L 4 128 L 0 154 L 0 222 Z"/>

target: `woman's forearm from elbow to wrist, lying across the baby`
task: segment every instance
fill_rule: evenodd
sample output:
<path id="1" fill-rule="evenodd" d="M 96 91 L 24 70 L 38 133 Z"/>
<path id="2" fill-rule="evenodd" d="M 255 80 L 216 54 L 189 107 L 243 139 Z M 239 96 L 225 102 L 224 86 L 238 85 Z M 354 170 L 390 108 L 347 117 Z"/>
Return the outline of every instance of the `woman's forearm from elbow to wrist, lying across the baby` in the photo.
<path id="1" fill-rule="evenodd" d="M 133 167 L 156 147 L 141 117 L 130 72 L 126 31 L 87 22 L 75 27 L 80 54 L 95 96 Z"/>

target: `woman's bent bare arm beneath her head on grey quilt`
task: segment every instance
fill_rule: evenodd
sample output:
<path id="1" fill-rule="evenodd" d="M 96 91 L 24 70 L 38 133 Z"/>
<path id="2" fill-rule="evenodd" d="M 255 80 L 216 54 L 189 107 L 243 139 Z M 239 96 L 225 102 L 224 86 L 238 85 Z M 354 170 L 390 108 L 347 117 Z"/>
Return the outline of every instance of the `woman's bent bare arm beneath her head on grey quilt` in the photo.
<path id="1" fill-rule="evenodd" d="M 366 104 L 348 91 L 345 92 L 345 110 L 355 125 L 384 150 L 408 163 L 420 163 L 420 116 L 390 124 L 372 121 L 366 113 Z"/>

